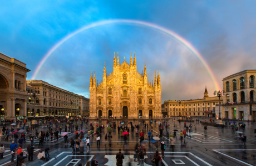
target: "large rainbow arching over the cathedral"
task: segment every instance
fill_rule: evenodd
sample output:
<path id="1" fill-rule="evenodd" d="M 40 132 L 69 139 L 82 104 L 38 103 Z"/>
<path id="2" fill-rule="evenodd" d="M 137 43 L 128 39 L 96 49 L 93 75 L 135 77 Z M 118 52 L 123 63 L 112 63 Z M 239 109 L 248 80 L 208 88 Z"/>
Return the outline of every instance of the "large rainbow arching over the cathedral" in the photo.
<path id="1" fill-rule="evenodd" d="M 86 25 L 85 27 L 82 27 L 78 30 L 76 30 L 75 32 L 72 32 L 71 34 L 68 34 L 66 37 L 64 37 L 63 39 L 61 39 L 57 44 L 55 44 L 49 51 L 48 53 L 43 56 L 42 60 L 40 61 L 40 63 L 38 64 L 35 72 L 32 75 L 32 79 L 35 79 L 38 72 L 40 71 L 40 69 L 42 68 L 43 64 L 45 63 L 45 61 L 48 59 L 49 56 L 52 55 L 52 53 L 59 47 L 61 46 L 63 43 L 65 43 L 68 39 L 74 37 L 75 35 L 77 35 L 80 32 L 83 32 L 84 30 L 90 29 L 90 28 L 94 28 L 94 27 L 99 27 L 101 25 L 106 25 L 106 24 L 114 24 L 114 23 L 118 23 L 118 24 L 131 24 L 131 25 L 137 25 L 137 26 L 142 26 L 142 27 L 148 27 L 148 28 L 152 28 L 154 30 L 158 30 L 159 32 L 162 32 L 164 34 L 169 35 L 170 37 L 175 38 L 176 40 L 178 40 L 178 42 L 180 42 L 181 44 L 184 44 L 190 51 L 191 53 L 193 53 L 200 61 L 201 63 L 204 65 L 205 69 L 208 71 L 211 80 L 213 80 L 214 82 L 214 86 L 217 90 L 220 90 L 220 86 L 218 84 L 218 81 L 216 81 L 216 77 L 213 74 L 213 71 L 210 69 L 210 66 L 206 63 L 206 61 L 204 60 L 203 56 L 199 53 L 198 50 L 196 50 L 194 48 L 193 45 L 191 45 L 187 40 L 185 40 L 183 37 L 181 37 L 180 35 L 172 32 L 169 29 L 166 29 L 164 27 L 161 27 L 159 25 L 156 24 L 152 24 L 152 23 L 148 23 L 148 22 L 142 22 L 140 20 L 131 20 L 131 19 L 111 19 L 111 20 L 102 20 L 99 22 L 95 22 L 92 23 L 90 25 Z"/>

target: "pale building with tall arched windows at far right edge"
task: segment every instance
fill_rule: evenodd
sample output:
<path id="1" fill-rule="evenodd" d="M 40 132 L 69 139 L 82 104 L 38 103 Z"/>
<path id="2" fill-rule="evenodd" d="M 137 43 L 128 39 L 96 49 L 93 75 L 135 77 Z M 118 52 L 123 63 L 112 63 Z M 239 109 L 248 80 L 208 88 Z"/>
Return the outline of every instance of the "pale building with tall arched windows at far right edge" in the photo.
<path id="1" fill-rule="evenodd" d="M 223 79 L 221 118 L 256 120 L 255 76 L 256 70 L 244 70 Z"/>

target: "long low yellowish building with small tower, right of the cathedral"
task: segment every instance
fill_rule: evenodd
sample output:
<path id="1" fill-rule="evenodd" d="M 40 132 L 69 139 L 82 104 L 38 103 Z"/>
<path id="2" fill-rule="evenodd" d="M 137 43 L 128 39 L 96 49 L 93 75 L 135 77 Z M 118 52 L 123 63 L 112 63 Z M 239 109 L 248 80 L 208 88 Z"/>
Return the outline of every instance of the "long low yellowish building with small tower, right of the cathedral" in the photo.
<path id="1" fill-rule="evenodd" d="M 220 103 L 223 102 L 223 96 L 220 97 Z M 215 117 L 216 105 L 219 103 L 219 97 L 209 97 L 208 91 L 205 87 L 204 98 L 195 100 L 179 101 L 169 100 L 165 101 L 165 111 L 168 116 L 186 116 L 186 117 Z"/>

